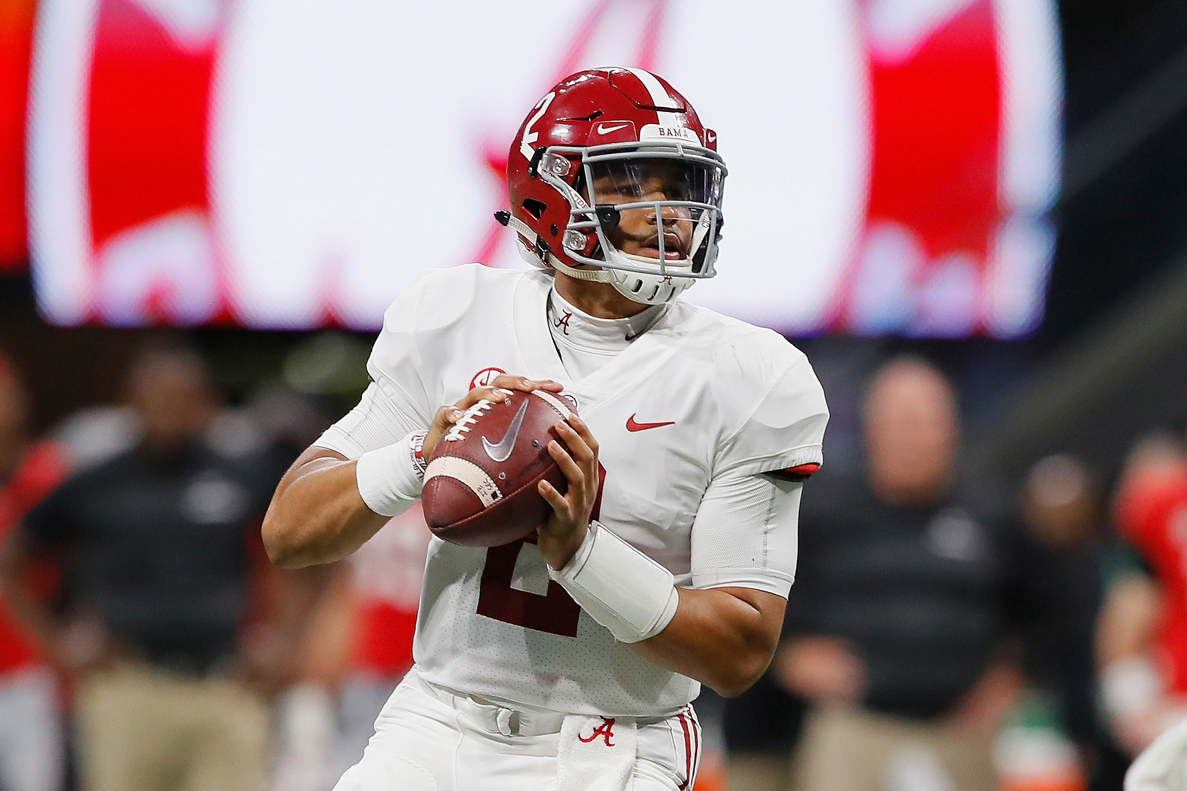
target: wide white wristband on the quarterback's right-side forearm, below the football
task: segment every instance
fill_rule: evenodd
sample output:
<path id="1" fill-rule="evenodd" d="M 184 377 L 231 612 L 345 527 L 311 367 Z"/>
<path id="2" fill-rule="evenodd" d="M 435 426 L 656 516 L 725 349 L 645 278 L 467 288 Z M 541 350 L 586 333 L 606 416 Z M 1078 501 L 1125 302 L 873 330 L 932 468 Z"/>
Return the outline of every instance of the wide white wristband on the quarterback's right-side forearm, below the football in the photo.
<path id="1" fill-rule="evenodd" d="M 662 632 L 680 602 L 671 571 L 596 521 L 565 568 L 550 567 L 548 576 L 622 643 Z"/>

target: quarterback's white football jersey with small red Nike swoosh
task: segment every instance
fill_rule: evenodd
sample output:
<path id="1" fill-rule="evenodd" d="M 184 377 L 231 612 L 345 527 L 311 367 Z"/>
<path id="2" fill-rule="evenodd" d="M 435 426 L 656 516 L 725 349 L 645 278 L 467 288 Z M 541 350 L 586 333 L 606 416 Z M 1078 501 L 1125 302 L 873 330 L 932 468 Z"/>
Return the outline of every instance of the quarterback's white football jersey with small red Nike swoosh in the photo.
<path id="1" fill-rule="evenodd" d="M 677 584 L 766 578 L 786 595 L 789 572 L 769 568 L 764 536 L 738 536 L 742 552 L 698 557 L 693 520 L 717 476 L 820 463 L 829 415 L 804 354 L 770 330 L 677 300 L 571 381 L 546 324 L 551 287 L 538 271 L 425 272 L 385 315 L 368 362 L 374 386 L 425 426 L 442 404 L 500 373 L 560 382 L 601 447 L 598 521 Z M 792 553 L 794 569 L 794 542 Z M 434 538 L 413 653 L 421 677 L 440 686 L 566 713 L 655 716 L 699 692 L 585 614 L 548 580 L 531 542 L 485 550 Z"/>

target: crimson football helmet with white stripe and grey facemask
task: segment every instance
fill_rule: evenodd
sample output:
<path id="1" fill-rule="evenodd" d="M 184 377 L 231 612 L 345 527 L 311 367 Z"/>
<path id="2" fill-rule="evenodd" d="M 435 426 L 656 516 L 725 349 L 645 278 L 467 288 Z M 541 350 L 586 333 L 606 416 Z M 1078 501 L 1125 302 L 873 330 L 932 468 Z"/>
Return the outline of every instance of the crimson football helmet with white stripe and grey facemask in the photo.
<path id="1" fill-rule="evenodd" d="M 655 305 L 716 274 L 725 173 L 717 134 L 672 86 L 642 69 L 590 69 L 520 126 L 507 159 L 512 208 L 495 216 L 528 262 Z M 636 241 L 650 255 L 611 241 L 631 210 L 647 213 L 652 230 Z"/>

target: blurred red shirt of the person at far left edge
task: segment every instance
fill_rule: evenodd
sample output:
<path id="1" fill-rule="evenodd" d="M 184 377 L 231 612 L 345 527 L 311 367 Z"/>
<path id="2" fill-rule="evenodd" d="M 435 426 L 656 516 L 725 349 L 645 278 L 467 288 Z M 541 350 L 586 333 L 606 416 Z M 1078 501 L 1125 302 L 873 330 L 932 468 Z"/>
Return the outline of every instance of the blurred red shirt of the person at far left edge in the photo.
<path id="1" fill-rule="evenodd" d="M 65 453 L 51 442 L 39 442 L 25 451 L 17 472 L 0 485 L 0 543 L 28 511 L 66 479 Z M 36 567 L 24 581 L 36 595 L 49 596 L 57 582 L 53 569 Z M 0 596 L 0 675 L 38 664 L 42 650 L 15 622 Z"/>

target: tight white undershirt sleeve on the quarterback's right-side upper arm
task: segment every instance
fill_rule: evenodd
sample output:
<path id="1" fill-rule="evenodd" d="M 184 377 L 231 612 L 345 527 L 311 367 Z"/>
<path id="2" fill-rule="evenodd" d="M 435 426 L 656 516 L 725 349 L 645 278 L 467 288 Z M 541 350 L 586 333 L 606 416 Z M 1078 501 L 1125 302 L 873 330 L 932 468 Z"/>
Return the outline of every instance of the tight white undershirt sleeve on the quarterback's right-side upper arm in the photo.
<path id="1" fill-rule="evenodd" d="M 801 482 L 715 479 L 692 524 L 692 587 L 787 597 L 795 580 Z"/>

